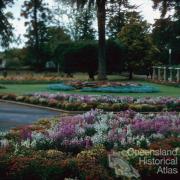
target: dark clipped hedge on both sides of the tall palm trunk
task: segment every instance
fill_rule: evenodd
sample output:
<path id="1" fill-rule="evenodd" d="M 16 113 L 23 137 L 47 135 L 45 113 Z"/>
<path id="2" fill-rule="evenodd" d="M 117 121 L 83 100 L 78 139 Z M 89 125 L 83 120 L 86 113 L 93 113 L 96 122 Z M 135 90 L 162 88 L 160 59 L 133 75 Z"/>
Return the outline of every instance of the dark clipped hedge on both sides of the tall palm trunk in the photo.
<path id="1" fill-rule="evenodd" d="M 121 72 L 124 48 L 118 41 L 107 41 L 108 73 Z M 97 72 L 98 48 L 96 42 L 60 43 L 55 52 L 63 71 L 88 72 L 91 79 Z"/>

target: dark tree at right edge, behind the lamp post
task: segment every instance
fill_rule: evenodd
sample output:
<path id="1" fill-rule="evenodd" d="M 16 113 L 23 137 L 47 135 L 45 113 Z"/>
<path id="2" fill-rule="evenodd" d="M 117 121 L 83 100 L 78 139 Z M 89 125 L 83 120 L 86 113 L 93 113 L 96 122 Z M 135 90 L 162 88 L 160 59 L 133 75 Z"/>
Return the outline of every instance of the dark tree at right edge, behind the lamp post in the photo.
<path id="1" fill-rule="evenodd" d="M 154 8 L 161 11 L 161 18 L 156 20 L 153 29 L 153 38 L 161 50 L 161 59 L 168 58 L 168 49 L 172 49 L 173 63 L 180 58 L 180 1 L 179 0 L 153 0 Z M 167 18 L 168 11 L 171 13 Z"/>

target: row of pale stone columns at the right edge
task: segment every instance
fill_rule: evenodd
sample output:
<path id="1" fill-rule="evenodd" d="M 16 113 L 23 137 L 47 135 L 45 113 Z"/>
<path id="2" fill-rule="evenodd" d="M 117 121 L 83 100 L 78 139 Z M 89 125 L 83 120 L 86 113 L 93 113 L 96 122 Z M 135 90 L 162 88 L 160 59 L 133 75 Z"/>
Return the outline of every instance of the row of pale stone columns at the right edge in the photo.
<path id="1" fill-rule="evenodd" d="M 180 82 L 180 68 L 153 66 L 153 80 Z"/>

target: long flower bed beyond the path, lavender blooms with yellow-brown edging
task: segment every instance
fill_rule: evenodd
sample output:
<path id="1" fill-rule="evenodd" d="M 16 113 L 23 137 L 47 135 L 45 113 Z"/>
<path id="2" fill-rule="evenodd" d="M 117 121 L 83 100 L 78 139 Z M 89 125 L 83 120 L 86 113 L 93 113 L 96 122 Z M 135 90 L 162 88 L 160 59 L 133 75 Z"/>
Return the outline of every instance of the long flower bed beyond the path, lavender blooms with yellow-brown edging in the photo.
<path id="1" fill-rule="evenodd" d="M 0 94 L 0 99 L 44 105 L 68 111 L 104 109 L 121 111 L 132 109 L 138 112 L 180 111 L 180 97 L 144 97 L 111 95 L 70 95 L 62 93 L 34 93 L 17 96 Z"/>

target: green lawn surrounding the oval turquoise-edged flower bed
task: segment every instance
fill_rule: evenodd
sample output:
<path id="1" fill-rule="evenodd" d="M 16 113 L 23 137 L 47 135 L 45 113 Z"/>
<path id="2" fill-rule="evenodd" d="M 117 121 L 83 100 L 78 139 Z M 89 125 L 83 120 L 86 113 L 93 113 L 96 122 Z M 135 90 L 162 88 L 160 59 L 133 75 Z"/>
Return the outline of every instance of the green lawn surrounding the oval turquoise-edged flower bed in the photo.
<path id="1" fill-rule="evenodd" d="M 180 96 L 180 88 L 166 85 L 159 85 L 154 83 L 148 83 L 145 81 L 134 81 L 143 83 L 145 85 L 152 85 L 158 87 L 160 92 L 158 93 L 90 93 L 90 92 L 80 92 L 80 91 L 65 91 L 63 93 L 69 94 L 113 94 L 120 96 Z M 25 94 L 32 92 L 58 92 L 53 90 L 48 90 L 47 84 L 4 84 L 6 89 L 0 89 L 0 93 L 15 93 L 15 94 Z"/>

